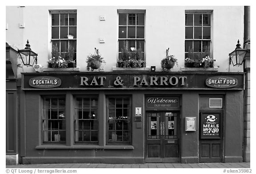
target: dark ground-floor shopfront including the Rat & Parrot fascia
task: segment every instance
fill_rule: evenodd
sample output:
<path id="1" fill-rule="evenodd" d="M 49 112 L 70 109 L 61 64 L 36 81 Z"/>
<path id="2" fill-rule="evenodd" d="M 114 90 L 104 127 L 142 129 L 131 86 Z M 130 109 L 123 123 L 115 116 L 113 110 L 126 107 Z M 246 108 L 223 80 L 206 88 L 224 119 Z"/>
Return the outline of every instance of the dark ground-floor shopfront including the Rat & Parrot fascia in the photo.
<path id="1" fill-rule="evenodd" d="M 239 101 L 243 96 L 243 75 L 213 72 L 23 73 L 25 97 L 22 101 L 26 104 L 26 111 L 20 118 L 27 125 L 33 124 L 26 129 L 25 125 L 21 125 L 21 138 L 26 140 L 21 144 L 21 158 L 23 163 L 240 161 L 243 125 L 242 103 Z M 225 76 L 236 79 L 236 84 L 229 88 L 208 86 L 208 83 L 212 85 L 216 82 L 216 76 L 219 79 Z M 46 144 L 42 138 L 42 101 L 45 96 L 52 95 L 66 100 L 66 141 L 62 144 Z M 116 96 L 122 97 L 122 105 L 113 105 L 112 98 Z M 95 99 L 98 101 L 97 109 L 90 107 L 90 111 L 97 111 L 95 120 L 99 125 L 99 128 L 91 130 L 98 134 L 98 141 L 94 144 L 77 143 L 78 134 L 87 131 L 76 129 L 74 113 L 87 109 L 74 104 L 81 97 L 81 101 L 88 97 L 91 103 Z M 220 108 L 209 107 L 210 99 L 220 98 Z M 123 120 L 117 118 L 114 111 L 122 113 Z M 124 120 L 127 115 L 129 119 Z M 206 122 L 209 125 L 202 126 L 205 118 L 211 119 L 207 118 L 209 115 L 214 115 L 218 122 Z M 112 120 L 114 117 L 116 120 Z M 227 120 L 232 120 L 232 124 L 228 124 Z M 117 127 L 117 123 L 123 126 Z M 218 128 L 219 133 L 204 133 L 204 128 Z M 88 139 L 93 137 L 96 136 L 89 136 Z M 125 140 L 123 144 L 118 142 L 121 139 Z M 236 146 L 228 148 L 231 143 L 236 143 Z"/>

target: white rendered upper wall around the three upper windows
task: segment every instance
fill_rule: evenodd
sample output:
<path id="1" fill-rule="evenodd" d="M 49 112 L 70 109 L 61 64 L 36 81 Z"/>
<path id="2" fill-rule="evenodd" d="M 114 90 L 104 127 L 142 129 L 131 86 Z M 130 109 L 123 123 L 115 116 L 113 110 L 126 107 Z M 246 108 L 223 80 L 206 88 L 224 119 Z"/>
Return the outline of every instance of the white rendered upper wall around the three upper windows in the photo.
<path id="1" fill-rule="evenodd" d="M 243 71 L 243 67 L 229 66 L 228 53 L 236 47 L 237 40 L 243 45 L 244 7 L 243 6 L 7 6 L 6 42 L 23 49 L 29 40 L 33 51 L 38 53 L 38 64 L 47 67 L 51 52 L 51 18 L 49 10 L 77 10 L 77 67 L 86 71 L 86 57 L 94 53 L 94 47 L 104 57 L 105 71 L 112 71 L 117 60 L 118 15 L 117 9 L 144 9 L 146 66 L 156 66 L 160 71 L 160 61 L 166 49 L 178 59 L 180 71 L 184 67 L 185 10 L 213 10 L 211 47 L 215 67 L 218 71 Z M 100 21 L 104 15 L 106 20 Z M 19 24 L 24 23 L 24 28 Z M 99 43 L 104 38 L 105 43 Z M 32 67 L 22 71 L 32 72 Z"/>

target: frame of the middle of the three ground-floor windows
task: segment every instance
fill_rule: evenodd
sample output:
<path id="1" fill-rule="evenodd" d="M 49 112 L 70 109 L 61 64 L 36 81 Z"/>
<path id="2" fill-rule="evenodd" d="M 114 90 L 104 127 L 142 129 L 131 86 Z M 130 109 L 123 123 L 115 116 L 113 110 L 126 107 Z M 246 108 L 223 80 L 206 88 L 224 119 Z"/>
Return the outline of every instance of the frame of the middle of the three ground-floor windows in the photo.
<path id="1" fill-rule="evenodd" d="M 82 99 L 82 102 L 84 101 L 84 99 L 90 99 L 90 106 L 89 106 L 89 108 L 86 108 L 86 107 L 83 107 L 83 104 L 82 104 L 82 107 L 80 108 L 79 106 L 78 107 L 76 107 L 76 99 L 77 98 L 81 98 Z M 97 99 L 97 105 L 96 105 L 96 107 L 93 107 L 93 109 L 96 109 L 97 110 L 97 119 L 79 119 L 79 116 L 77 116 L 76 117 L 76 109 L 82 109 L 82 111 L 83 111 L 83 109 L 89 109 L 89 111 L 91 112 L 91 109 L 92 109 L 92 107 L 91 107 L 91 99 L 93 99 L 93 98 L 96 98 Z M 75 95 L 75 96 L 73 96 L 73 100 L 74 100 L 74 129 L 73 130 L 71 130 L 71 131 L 74 131 L 74 145 L 81 145 L 81 144 L 84 144 L 84 145 L 88 145 L 88 144 L 94 144 L 94 145 L 97 145 L 97 144 L 99 144 L 99 123 L 100 123 L 100 116 L 99 116 L 99 96 L 98 95 L 88 95 L 88 96 L 84 96 L 84 95 L 82 95 L 82 96 L 80 96 L 80 95 Z M 96 120 L 97 121 L 97 123 L 98 123 L 98 129 L 97 129 L 97 141 L 76 141 L 76 131 L 78 131 L 78 139 L 79 139 L 79 131 L 81 131 L 81 130 L 79 130 L 79 127 L 78 127 L 78 130 L 76 130 L 76 120 L 77 120 L 77 118 L 78 118 L 78 120 L 82 120 L 82 121 L 84 121 L 84 120 Z M 79 125 L 79 122 L 77 123 L 78 125 Z M 95 131 L 95 130 L 93 130 L 93 131 Z M 82 132 L 84 132 L 84 129 L 82 130 Z M 91 129 L 90 129 L 90 139 L 91 139 Z"/>

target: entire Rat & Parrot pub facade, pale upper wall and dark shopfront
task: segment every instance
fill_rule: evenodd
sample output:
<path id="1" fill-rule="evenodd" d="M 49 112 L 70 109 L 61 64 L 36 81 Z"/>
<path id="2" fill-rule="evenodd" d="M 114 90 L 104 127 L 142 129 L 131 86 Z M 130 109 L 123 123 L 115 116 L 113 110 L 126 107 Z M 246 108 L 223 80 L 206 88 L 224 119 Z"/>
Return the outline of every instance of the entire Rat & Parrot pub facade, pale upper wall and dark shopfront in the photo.
<path id="1" fill-rule="evenodd" d="M 166 10 L 163 7 L 92 7 L 96 12 L 101 11 L 96 13 L 82 11 L 88 7 L 17 6 L 7 7 L 7 16 L 8 12 L 20 10 L 27 16 L 36 8 L 38 14 L 31 16 L 32 19 L 43 12 L 48 16 L 41 16 L 39 26 L 30 26 L 30 22 L 25 17 L 23 19 L 26 22 L 24 38 L 29 37 L 31 49 L 37 51 L 38 56 L 32 67 L 22 66 L 20 57 L 16 58 L 15 91 L 18 97 L 13 101 L 16 112 L 12 119 L 18 126 L 9 128 L 11 124 L 8 122 L 7 132 L 14 128 L 12 133 L 16 136 L 7 136 L 7 141 L 13 143 L 12 146 L 7 145 L 7 159 L 15 155 L 14 158 L 22 164 L 244 160 L 246 73 L 243 67 L 233 67 L 229 63 L 228 53 L 235 47 L 226 45 L 221 48 L 213 43 L 213 40 L 224 36 L 216 33 L 220 28 L 213 19 L 225 16 L 225 7 L 177 7 L 184 32 L 180 33 L 183 39 L 176 42 L 178 46 L 175 48 L 169 38 L 159 41 L 152 37 L 153 31 L 157 30 L 152 24 L 158 24 L 151 19 L 152 14 Z M 243 14 L 243 9 L 228 8 L 236 15 L 237 10 Z M 160 14 L 164 15 L 164 12 Z M 87 13 L 95 20 L 88 25 L 111 28 L 110 24 L 114 23 L 116 29 L 113 33 L 99 32 L 97 36 L 97 32 L 92 34 L 90 29 L 82 32 L 85 26 L 80 17 L 87 16 Z M 216 28 L 213 28 L 213 23 Z M 12 28 L 9 26 L 7 39 L 12 41 L 9 33 Z M 39 27 L 43 34 L 38 38 L 43 41 L 36 43 L 30 39 L 36 33 L 28 34 L 26 29 L 30 31 Z M 199 28 L 201 35 L 208 39 L 201 36 L 201 39 L 196 39 Z M 72 32 L 73 37 L 64 36 L 66 29 L 69 35 Z M 180 29 L 173 28 L 173 32 Z M 190 34 L 192 39 L 189 39 Z M 231 36 L 227 39 L 235 37 L 237 41 L 237 38 L 243 38 L 240 32 L 229 34 Z M 46 35 L 49 43 L 45 41 Z M 146 41 L 146 36 L 149 41 Z M 92 40 L 91 44 L 88 40 Z M 159 44 L 153 46 L 151 41 Z M 12 47 L 9 42 L 8 48 Z M 25 45 L 23 40 L 16 44 L 20 44 L 20 48 Z M 60 55 L 66 52 L 64 47 L 75 47 L 76 67 L 49 67 L 48 60 L 55 59 L 51 55 L 54 44 L 59 47 Z M 119 66 L 120 61 L 117 60 L 122 57 L 123 44 L 142 50 L 142 67 Z M 185 59 L 189 56 L 190 46 L 200 53 L 206 51 L 204 46 L 211 47 L 209 55 L 216 57 L 213 66 L 188 67 Z M 96 70 L 88 71 L 84 53 L 89 54 L 94 47 L 104 55 L 105 63 Z M 109 51 L 113 47 L 116 47 L 114 53 Z M 155 51 L 163 49 L 157 58 L 152 52 L 153 47 Z M 168 56 L 168 47 L 172 48 L 172 54 L 178 55 L 179 66 L 162 71 L 161 60 Z M 19 51 L 12 49 L 14 53 Z M 10 62 L 13 64 L 15 60 Z M 8 103 L 8 111 L 11 105 Z M 8 151 L 10 147 L 14 149 L 12 152 Z"/>

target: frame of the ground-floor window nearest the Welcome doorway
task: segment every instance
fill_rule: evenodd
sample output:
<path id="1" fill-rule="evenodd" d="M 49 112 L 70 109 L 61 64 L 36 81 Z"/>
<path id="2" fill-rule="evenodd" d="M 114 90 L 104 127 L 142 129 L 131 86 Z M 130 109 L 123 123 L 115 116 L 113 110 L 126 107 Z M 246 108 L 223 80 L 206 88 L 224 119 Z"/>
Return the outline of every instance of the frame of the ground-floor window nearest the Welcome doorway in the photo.
<path id="1" fill-rule="evenodd" d="M 128 108 L 129 109 L 129 112 L 130 112 L 130 118 L 127 119 L 128 120 L 128 123 L 130 123 L 129 125 L 129 128 L 128 128 L 128 132 L 129 132 L 129 141 L 116 141 L 116 142 L 110 142 L 109 141 L 109 98 L 115 98 L 115 99 L 129 99 L 129 105 L 130 107 Z M 129 95 L 123 95 L 123 96 L 117 96 L 117 95 L 108 95 L 106 96 L 106 145 L 132 145 L 132 96 L 129 96 Z M 115 102 L 115 105 L 116 105 L 116 102 Z M 123 104 L 122 104 L 123 105 Z M 112 107 L 111 107 L 112 108 Z M 112 108 L 113 109 L 113 108 Z M 118 107 L 118 109 L 124 109 L 124 107 L 120 108 Z M 127 109 L 127 108 L 125 108 Z M 116 106 L 115 106 L 115 110 L 116 110 Z M 115 111 L 115 115 L 116 115 L 116 111 Z M 115 119 L 115 120 L 120 120 L 120 119 Z M 116 130 L 116 129 L 115 129 Z M 126 130 L 121 130 L 121 131 L 126 131 Z"/>

